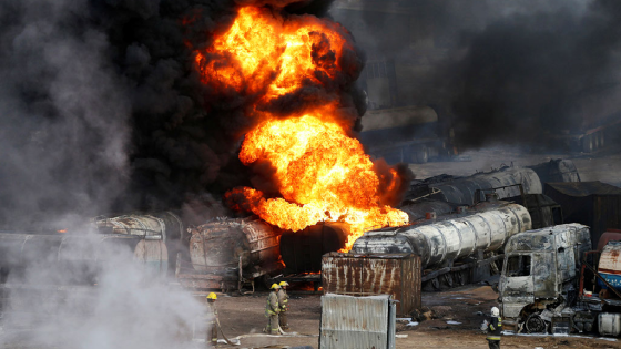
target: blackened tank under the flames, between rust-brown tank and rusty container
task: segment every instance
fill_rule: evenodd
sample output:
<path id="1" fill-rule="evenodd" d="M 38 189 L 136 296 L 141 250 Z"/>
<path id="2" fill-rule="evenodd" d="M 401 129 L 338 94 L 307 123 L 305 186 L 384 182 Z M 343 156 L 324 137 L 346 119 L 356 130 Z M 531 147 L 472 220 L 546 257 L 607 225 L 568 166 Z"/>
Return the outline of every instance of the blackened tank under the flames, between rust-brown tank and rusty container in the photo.
<path id="1" fill-rule="evenodd" d="M 322 256 L 345 247 L 349 225 L 322 223 L 302 232 L 285 232 L 281 237 L 281 255 L 289 273 L 322 271 Z"/>

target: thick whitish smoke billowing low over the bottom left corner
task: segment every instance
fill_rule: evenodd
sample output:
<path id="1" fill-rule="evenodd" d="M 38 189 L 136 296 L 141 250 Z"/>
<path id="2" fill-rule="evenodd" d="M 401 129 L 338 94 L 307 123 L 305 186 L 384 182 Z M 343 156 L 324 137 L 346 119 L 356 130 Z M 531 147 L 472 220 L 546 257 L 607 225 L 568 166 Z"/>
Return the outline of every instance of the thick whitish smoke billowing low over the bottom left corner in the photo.
<path id="1" fill-rule="evenodd" d="M 10 292 L 0 322 L 3 346 L 169 349 L 195 348 L 193 337 L 204 338 L 204 305 L 134 261 L 129 246 L 90 234 L 70 237 L 59 261 L 57 252 L 31 255 L 35 242 L 28 244 L 24 270 L 9 275 L 3 292 Z"/>

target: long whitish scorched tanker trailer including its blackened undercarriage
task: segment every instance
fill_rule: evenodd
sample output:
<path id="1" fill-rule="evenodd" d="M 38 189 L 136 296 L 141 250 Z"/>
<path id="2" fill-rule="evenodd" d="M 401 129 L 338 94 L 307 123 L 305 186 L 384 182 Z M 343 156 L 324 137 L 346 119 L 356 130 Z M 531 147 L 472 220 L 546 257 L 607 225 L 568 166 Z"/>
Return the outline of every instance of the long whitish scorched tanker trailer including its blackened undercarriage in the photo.
<path id="1" fill-rule="evenodd" d="M 426 288 L 439 289 L 476 283 L 496 270 L 507 239 L 531 228 L 528 209 L 497 202 L 485 212 L 365 233 L 352 248 L 355 254 L 415 254 L 425 269 Z"/>

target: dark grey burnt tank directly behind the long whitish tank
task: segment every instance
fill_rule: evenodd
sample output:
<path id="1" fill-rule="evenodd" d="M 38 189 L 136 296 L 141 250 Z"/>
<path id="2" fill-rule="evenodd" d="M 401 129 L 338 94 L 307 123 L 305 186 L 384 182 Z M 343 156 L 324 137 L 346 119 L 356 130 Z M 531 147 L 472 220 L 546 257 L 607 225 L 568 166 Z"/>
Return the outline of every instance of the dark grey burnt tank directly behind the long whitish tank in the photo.
<path id="1" fill-rule="evenodd" d="M 471 206 L 476 201 L 485 199 L 486 192 L 483 189 L 508 186 L 496 189 L 498 198 L 518 196 L 521 192 L 517 184 L 522 185 L 525 194 L 542 193 L 539 176 L 537 176 L 535 171 L 526 167 L 503 167 L 490 173 L 478 173 L 469 177 L 431 183 L 428 186 L 431 191 L 439 191 L 439 193 L 431 195 L 430 198 Z M 476 197 L 477 189 L 481 189 L 480 197 L 478 198 Z"/>

